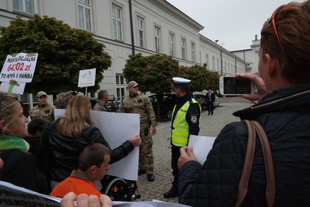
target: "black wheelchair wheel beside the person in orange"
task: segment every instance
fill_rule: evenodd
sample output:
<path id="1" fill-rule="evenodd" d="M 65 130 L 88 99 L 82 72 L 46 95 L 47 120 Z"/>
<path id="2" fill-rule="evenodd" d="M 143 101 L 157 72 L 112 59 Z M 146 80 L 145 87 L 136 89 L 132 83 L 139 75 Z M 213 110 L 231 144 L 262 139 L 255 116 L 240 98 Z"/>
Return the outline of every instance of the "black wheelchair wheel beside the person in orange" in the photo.
<path id="1" fill-rule="evenodd" d="M 126 182 L 121 178 L 113 179 L 105 188 L 105 195 L 112 201 L 131 201 L 131 195 Z"/>

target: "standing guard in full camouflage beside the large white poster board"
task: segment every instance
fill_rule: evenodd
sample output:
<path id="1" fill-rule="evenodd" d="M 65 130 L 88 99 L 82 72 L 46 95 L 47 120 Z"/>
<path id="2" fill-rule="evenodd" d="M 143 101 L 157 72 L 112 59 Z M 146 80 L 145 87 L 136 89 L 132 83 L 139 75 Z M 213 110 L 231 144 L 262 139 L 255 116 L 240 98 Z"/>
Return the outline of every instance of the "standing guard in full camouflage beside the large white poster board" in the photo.
<path id="1" fill-rule="evenodd" d="M 154 181 L 154 158 L 153 158 L 153 140 L 150 133 L 156 133 L 156 118 L 150 99 L 143 94 L 138 94 L 138 83 L 130 81 L 128 83 L 129 96 L 121 102 L 121 113 L 139 113 L 140 114 L 140 137 L 141 145 L 139 148 L 139 170 L 138 175 L 147 174 L 149 182 Z M 150 124 L 151 122 L 151 124 Z M 151 125 L 151 126 L 150 126 Z"/>

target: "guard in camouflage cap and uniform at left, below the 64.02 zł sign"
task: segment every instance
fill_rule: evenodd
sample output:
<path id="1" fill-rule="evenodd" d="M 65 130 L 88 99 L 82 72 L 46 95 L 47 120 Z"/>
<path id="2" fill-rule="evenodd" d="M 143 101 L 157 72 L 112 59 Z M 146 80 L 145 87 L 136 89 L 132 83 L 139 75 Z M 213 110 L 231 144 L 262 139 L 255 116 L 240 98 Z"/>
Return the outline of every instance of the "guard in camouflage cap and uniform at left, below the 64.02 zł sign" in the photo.
<path id="1" fill-rule="evenodd" d="M 53 110 L 55 106 L 47 102 L 47 94 L 44 91 L 40 91 L 36 94 L 36 99 L 39 104 L 30 110 L 30 118 L 33 119 L 36 117 L 47 122 L 53 121 Z"/>

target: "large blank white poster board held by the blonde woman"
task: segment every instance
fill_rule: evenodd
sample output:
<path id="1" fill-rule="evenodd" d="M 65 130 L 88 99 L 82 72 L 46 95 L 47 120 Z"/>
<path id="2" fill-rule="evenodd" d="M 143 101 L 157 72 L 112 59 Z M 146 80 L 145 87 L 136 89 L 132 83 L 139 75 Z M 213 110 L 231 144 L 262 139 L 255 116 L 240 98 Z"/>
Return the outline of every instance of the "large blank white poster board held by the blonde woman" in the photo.
<path id="1" fill-rule="evenodd" d="M 55 119 L 64 117 L 65 112 L 65 109 L 55 109 Z M 92 119 L 109 143 L 111 150 L 140 132 L 139 114 L 92 111 Z M 135 147 L 124 159 L 112 164 L 106 174 L 127 180 L 138 180 L 138 161 L 139 147 Z"/>

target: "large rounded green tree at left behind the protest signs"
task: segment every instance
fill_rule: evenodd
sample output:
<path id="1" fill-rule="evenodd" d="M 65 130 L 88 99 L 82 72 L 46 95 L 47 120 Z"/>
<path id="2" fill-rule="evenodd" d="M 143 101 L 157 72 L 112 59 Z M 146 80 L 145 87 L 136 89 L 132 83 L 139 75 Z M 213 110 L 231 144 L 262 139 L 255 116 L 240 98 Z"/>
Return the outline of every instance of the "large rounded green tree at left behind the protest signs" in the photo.
<path id="1" fill-rule="evenodd" d="M 111 56 L 103 51 L 105 46 L 90 33 L 71 28 L 55 18 L 17 17 L 8 27 L 0 27 L 0 35 L 0 66 L 7 55 L 38 53 L 34 77 L 26 84 L 25 93 L 84 92 L 85 89 L 77 87 L 79 71 L 92 68 L 96 68 L 95 86 L 87 91 L 96 92 L 104 70 L 112 63 Z"/>

